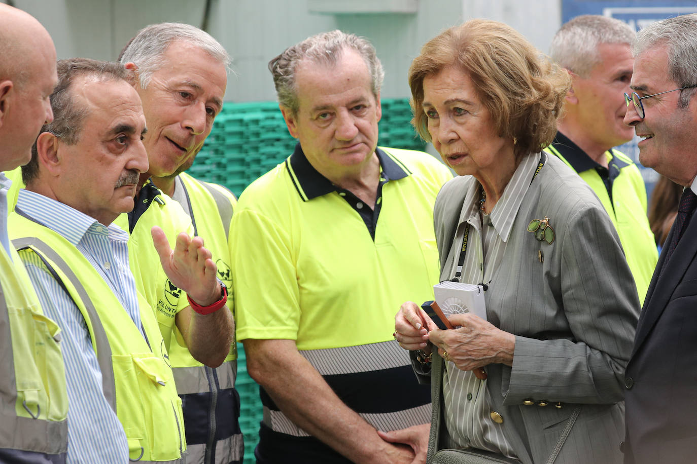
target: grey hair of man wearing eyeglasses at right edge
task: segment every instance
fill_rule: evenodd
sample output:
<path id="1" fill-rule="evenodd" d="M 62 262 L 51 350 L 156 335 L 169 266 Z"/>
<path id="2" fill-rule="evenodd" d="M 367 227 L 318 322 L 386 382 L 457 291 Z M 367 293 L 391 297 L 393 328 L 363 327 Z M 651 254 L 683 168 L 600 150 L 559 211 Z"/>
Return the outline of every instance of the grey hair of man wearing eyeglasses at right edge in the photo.
<path id="1" fill-rule="evenodd" d="M 697 85 L 697 14 L 671 17 L 646 26 L 636 35 L 631 53 L 637 56 L 661 45 L 668 45 L 668 77 L 678 87 Z M 681 108 L 687 108 L 695 92 L 694 88 L 680 90 Z"/>

